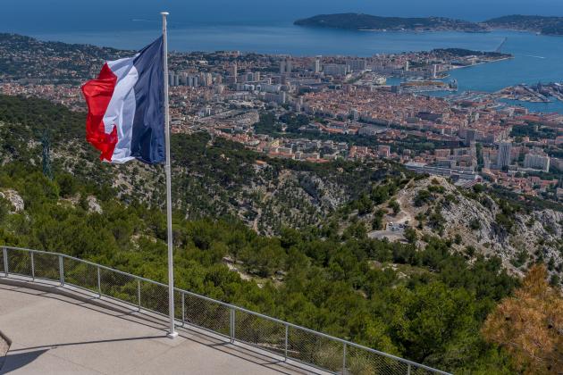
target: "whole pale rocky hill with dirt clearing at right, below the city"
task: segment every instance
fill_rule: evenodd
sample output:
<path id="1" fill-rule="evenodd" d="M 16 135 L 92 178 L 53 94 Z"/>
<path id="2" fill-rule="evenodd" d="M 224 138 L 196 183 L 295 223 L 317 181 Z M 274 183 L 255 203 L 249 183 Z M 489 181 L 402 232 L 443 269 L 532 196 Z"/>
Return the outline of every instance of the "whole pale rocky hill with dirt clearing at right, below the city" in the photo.
<path id="1" fill-rule="evenodd" d="M 337 212 L 340 231 L 361 223 L 372 238 L 411 243 L 428 238 L 449 241 L 451 251 L 471 262 L 475 256 L 498 258 L 502 267 L 521 277 L 537 262 L 547 264 L 551 284 L 563 279 L 563 209 L 512 201 L 476 185 L 453 186 L 437 176 L 410 181 L 387 180 L 369 195 Z M 407 229 L 395 228 L 405 225 Z"/>

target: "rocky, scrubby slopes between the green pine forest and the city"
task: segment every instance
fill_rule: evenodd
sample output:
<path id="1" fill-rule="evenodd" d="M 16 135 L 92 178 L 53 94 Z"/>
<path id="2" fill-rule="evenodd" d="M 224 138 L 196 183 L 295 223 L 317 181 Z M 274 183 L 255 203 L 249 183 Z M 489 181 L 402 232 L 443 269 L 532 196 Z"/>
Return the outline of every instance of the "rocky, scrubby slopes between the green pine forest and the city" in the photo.
<path id="1" fill-rule="evenodd" d="M 44 100 L 0 96 L 0 163 L 39 168 L 40 140 L 43 129 L 49 129 L 55 180 L 75 180 L 64 183 L 65 196 L 80 200 L 76 185 L 86 184 L 84 194 L 163 208 L 160 167 L 98 162 L 83 138 L 83 121 L 84 113 Z M 408 221 L 419 225 L 419 237 L 460 237 L 454 249 L 470 247 L 475 254 L 499 256 L 517 275 L 543 261 L 552 275 L 563 276 L 559 206 L 510 202 L 494 191 L 466 191 L 441 178 L 413 179 L 389 162 L 269 159 L 206 133 L 172 137 L 172 168 L 175 210 L 185 219 L 240 221 L 268 236 L 284 228 L 345 229 L 358 218 L 368 231 Z M 392 202 L 399 204 L 397 214 L 391 213 Z"/>

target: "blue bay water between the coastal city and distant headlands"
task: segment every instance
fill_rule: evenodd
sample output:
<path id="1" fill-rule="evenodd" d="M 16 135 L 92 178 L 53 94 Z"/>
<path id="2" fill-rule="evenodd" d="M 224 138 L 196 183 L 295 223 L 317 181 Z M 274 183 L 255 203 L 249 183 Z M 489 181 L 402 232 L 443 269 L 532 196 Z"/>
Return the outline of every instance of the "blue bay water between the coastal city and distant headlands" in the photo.
<path id="1" fill-rule="evenodd" d="M 159 32 L 160 22 L 156 17 L 150 20 L 131 18 L 114 29 L 30 29 L 26 34 L 41 40 L 139 49 Z M 350 31 L 299 27 L 291 21 L 170 21 L 169 24 L 169 48 L 182 52 L 238 50 L 264 54 L 371 56 L 448 47 L 479 51 L 495 51 L 500 47 L 501 52 L 514 55 L 513 59 L 452 71 L 448 79 L 458 80 L 460 93 L 467 90 L 493 92 L 520 83 L 563 81 L 563 37 L 531 32 Z M 563 103 L 555 99 L 548 104 L 511 104 L 523 105 L 533 112 L 563 113 Z"/>

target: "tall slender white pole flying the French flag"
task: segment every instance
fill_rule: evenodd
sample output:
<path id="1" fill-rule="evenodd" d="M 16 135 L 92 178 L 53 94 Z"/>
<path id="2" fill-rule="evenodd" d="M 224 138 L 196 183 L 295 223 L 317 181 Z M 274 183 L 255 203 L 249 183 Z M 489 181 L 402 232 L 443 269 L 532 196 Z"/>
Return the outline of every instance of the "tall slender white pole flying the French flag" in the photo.
<path id="1" fill-rule="evenodd" d="M 170 112 L 168 110 L 168 32 L 166 30 L 166 16 L 168 12 L 161 12 L 163 16 L 163 42 L 164 42 L 164 138 L 166 141 L 166 224 L 168 227 L 168 313 L 170 315 L 170 330 L 168 337 L 178 336 L 174 327 L 174 261 L 172 256 L 172 173 L 170 159 Z"/>

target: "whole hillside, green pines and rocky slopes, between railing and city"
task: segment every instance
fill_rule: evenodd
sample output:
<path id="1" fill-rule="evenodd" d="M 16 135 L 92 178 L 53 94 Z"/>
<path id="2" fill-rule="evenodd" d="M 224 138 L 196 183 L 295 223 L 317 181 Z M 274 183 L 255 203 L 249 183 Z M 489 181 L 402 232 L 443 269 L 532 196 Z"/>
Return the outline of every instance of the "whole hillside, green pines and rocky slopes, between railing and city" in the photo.
<path id="1" fill-rule="evenodd" d="M 0 245 L 165 281 L 164 173 L 99 162 L 84 117 L 0 96 Z M 481 333 L 519 284 L 506 269 L 543 259 L 559 282 L 560 212 L 387 162 L 268 159 L 205 133 L 173 135 L 172 157 L 178 287 L 444 370 L 509 374 L 511 357 Z M 368 233 L 389 221 L 420 229 L 406 243 Z"/>

